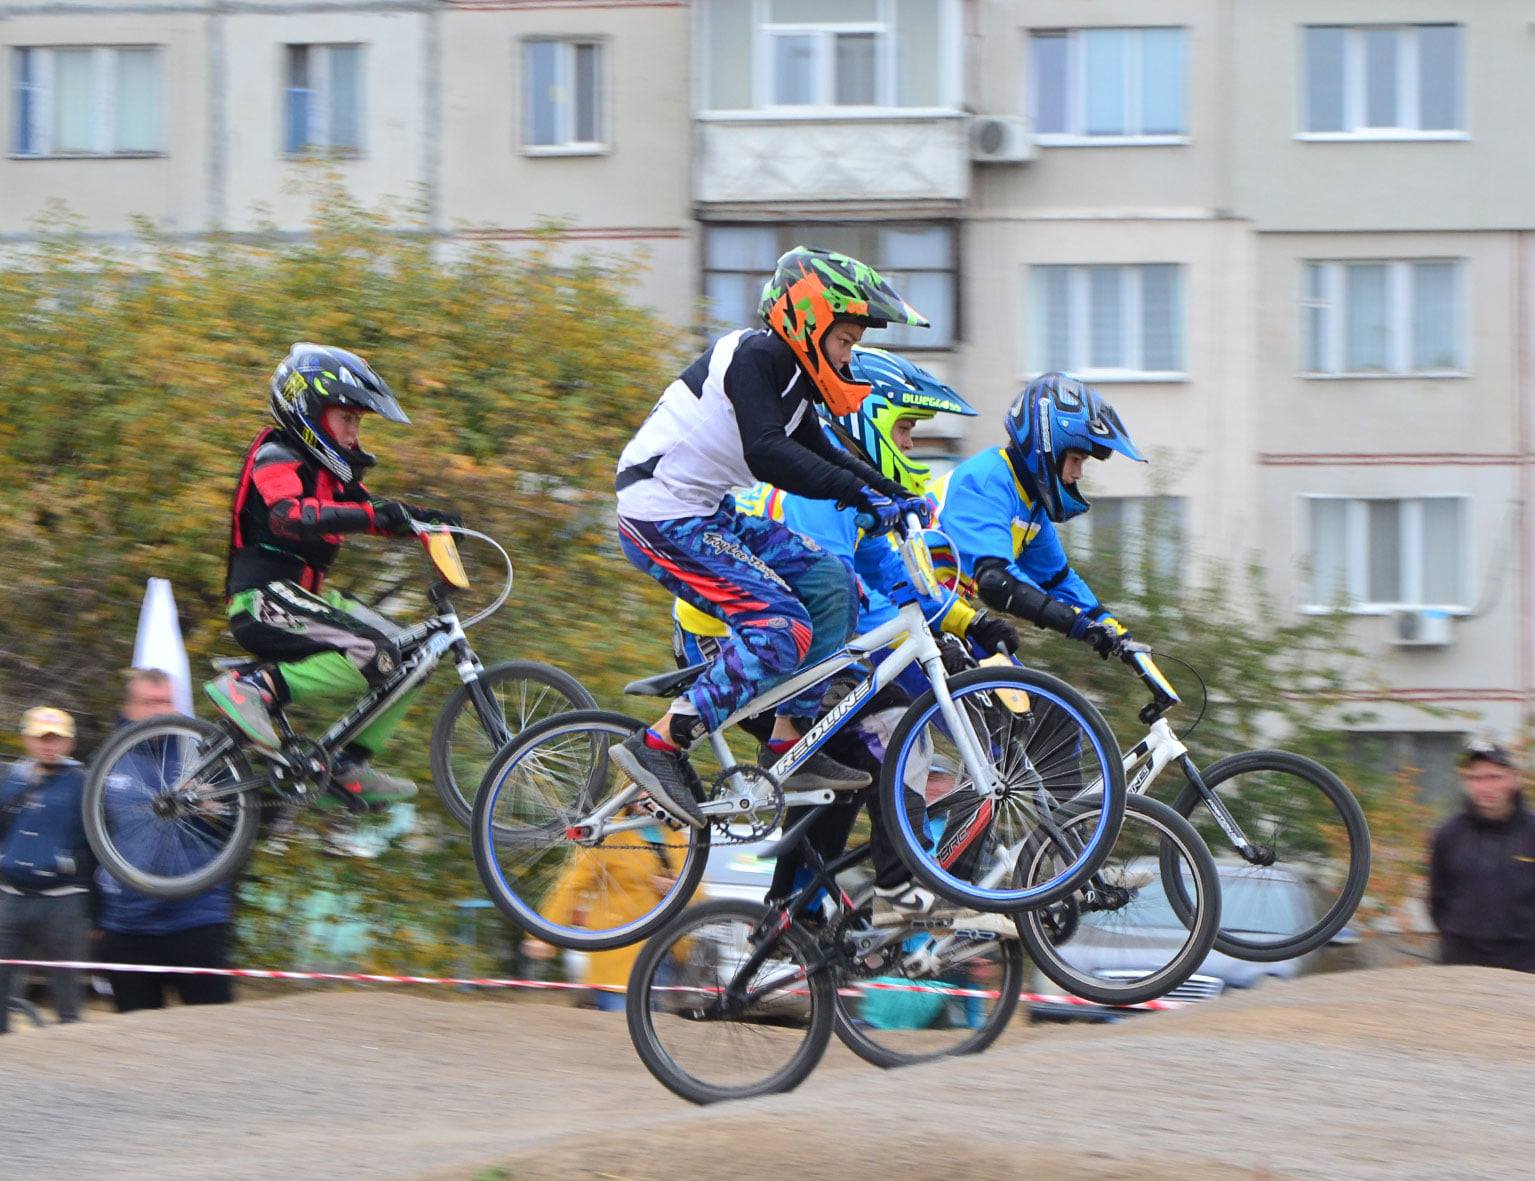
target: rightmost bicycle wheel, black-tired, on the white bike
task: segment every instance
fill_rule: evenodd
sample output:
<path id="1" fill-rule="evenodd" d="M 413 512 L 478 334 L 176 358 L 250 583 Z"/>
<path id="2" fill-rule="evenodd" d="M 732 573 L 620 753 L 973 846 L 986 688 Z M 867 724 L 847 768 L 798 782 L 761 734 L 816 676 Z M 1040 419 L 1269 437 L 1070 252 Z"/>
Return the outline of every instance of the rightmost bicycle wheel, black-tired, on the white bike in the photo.
<path id="1" fill-rule="evenodd" d="M 1216 951 L 1276 963 L 1315 951 L 1354 917 L 1369 882 L 1369 823 L 1358 800 L 1314 759 L 1245 751 L 1203 772 L 1251 855 L 1233 848 L 1193 783 L 1173 808 L 1219 851 L 1225 909 Z M 1170 891 L 1176 908 L 1187 898 Z"/>

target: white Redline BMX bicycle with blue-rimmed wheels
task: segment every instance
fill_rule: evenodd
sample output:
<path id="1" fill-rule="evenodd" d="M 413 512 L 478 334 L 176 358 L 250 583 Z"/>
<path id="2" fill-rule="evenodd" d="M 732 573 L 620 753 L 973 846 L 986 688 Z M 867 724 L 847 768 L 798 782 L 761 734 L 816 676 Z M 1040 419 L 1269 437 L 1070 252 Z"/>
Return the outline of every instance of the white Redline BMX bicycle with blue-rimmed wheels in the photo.
<path id="1" fill-rule="evenodd" d="M 645 809 L 642 789 L 617 772 L 608 748 L 643 728 L 643 722 L 602 710 L 574 711 L 546 719 L 523 731 L 502 749 L 485 772 L 470 835 L 480 880 L 496 906 L 513 923 L 560 948 L 600 951 L 645 938 L 688 905 L 703 875 L 712 839 L 726 843 L 758 840 L 771 832 L 791 805 L 829 803 L 830 791 L 784 791 L 781 779 L 792 776 L 806 757 L 844 726 L 858 710 L 913 663 L 930 688 L 913 702 L 889 743 L 886 766 L 910 768 L 910 786 L 924 792 L 927 803 L 939 794 L 962 794 L 979 802 L 987 812 L 985 862 L 975 872 L 959 877 L 941 863 L 941 852 L 930 846 L 924 826 L 889 825 L 887 832 L 919 877 L 946 897 L 984 911 L 1005 912 L 1039 906 L 1076 889 L 1108 855 L 1124 815 L 1125 780 L 1114 739 L 1098 710 L 1076 690 L 1044 673 L 1022 668 L 975 668 L 958 676 L 944 670 L 938 642 L 916 602 L 916 593 L 938 597 L 932 561 L 921 522 L 910 516 L 896 530 L 910 588 L 906 602 L 890 622 L 849 640 L 829 657 L 760 694 L 726 719 L 708 736 L 708 751 L 718 765 L 711 779 L 709 799 L 701 803 L 708 825 L 678 831 L 666 825 L 659 837 L 645 839 L 639 848 L 605 846 L 619 832 L 646 829 L 657 817 Z M 912 590 L 915 588 L 915 590 Z M 775 763 L 772 771 L 738 763 L 725 737 L 744 717 L 768 711 L 806 688 L 849 668 L 872 663 L 880 650 L 887 656 L 867 673 L 829 713 Z M 697 679 L 706 665 L 632 682 L 626 693 L 669 697 Z M 1076 729 L 1079 742 L 1068 749 L 1030 749 L 1027 725 L 1002 711 L 996 722 L 993 696 L 1024 693 L 1050 702 Z M 979 729 L 978 729 L 979 726 Z M 698 749 L 698 748 L 695 748 Z M 1005 754 L 1001 766 L 995 756 Z M 946 760 L 946 774 L 929 774 L 936 757 Z M 1062 871 L 1047 882 L 1012 882 L 1018 852 L 1041 825 L 1051 825 L 1050 789 L 1064 783 L 1099 782 L 1104 808 L 1091 832 L 1084 834 Z M 907 779 L 881 776 L 884 815 L 906 815 Z M 712 835 L 711 835 L 712 832 Z M 582 880 L 608 882 L 612 875 L 602 858 L 616 855 L 657 855 L 665 845 L 680 851 L 680 869 L 660 897 L 605 898 L 600 908 L 616 917 L 609 925 L 586 928 L 574 921 L 554 921 L 540 912 L 551 886 L 568 872 L 580 871 Z M 579 865 L 582 858 L 596 858 Z"/>

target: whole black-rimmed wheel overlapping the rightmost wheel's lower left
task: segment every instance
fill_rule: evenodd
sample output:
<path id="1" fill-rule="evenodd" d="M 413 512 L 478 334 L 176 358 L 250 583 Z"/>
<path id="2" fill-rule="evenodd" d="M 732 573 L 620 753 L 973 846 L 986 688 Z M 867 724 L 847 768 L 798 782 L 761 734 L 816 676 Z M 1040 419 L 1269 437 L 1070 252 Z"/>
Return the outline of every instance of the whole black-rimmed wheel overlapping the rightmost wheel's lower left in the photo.
<path id="1" fill-rule="evenodd" d="M 1061 809 L 1068 842 L 1096 823 L 1090 802 Z M 1027 849 L 1025 877 L 1051 877 L 1061 851 L 1047 842 Z M 1170 905 L 1170 882 L 1188 903 Z M 1194 826 L 1157 800 L 1131 796 L 1108 860 L 1061 906 L 1074 923 L 1061 923 L 1047 906 L 1018 915 L 1028 955 L 1050 980 L 1098 1004 L 1141 1004 L 1165 997 L 1210 955 L 1220 926 L 1220 878 Z"/>

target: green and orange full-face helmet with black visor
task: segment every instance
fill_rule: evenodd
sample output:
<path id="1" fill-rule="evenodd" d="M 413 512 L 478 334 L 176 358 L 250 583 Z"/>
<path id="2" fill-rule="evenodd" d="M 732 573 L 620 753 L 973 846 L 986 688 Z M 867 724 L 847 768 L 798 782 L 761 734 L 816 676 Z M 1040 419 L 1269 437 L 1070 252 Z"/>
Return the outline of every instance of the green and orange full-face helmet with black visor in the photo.
<path id="1" fill-rule="evenodd" d="M 896 295 L 884 276 L 835 250 L 795 246 L 778 260 L 757 304 L 768 327 L 794 352 L 834 415 L 850 415 L 870 385 L 826 356 L 826 333 L 838 319 L 870 329 L 886 324 L 930 327 L 926 316 Z"/>

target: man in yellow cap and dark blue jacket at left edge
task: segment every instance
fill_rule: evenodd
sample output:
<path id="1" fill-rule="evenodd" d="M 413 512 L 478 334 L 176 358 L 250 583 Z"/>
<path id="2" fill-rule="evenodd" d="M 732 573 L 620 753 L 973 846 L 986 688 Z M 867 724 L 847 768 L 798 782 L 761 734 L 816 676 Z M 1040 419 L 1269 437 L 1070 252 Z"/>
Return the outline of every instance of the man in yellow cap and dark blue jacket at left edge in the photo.
<path id="1" fill-rule="evenodd" d="M 83 960 L 94 860 L 80 820 L 84 774 L 69 757 L 75 720 L 37 706 L 21 716 L 28 757 L 0 779 L 0 960 Z M 15 969 L 0 966 L 0 1034 Z M 51 974 L 60 1021 L 80 1020 L 80 974 Z"/>

